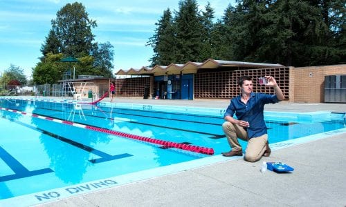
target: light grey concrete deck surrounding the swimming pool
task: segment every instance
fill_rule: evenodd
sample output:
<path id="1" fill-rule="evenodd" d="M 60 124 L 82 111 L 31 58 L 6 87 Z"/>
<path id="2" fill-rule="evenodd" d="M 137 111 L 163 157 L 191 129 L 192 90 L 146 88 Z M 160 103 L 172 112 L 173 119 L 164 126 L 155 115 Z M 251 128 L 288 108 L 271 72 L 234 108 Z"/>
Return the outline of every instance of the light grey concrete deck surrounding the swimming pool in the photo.
<path id="1" fill-rule="evenodd" d="M 105 99 L 103 101 L 109 101 Z M 229 100 L 116 99 L 116 102 L 226 108 Z M 343 103 L 276 103 L 265 110 L 345 112 Z M 346 133 L 272 150 L 250 163 L 217 164 L 136 181 L 39 206 L 346 206 Z M 219 155 L 221 156 L 221 155 Z M 292 173 L 260 172 L 262 161 L 282 161 Z"/>

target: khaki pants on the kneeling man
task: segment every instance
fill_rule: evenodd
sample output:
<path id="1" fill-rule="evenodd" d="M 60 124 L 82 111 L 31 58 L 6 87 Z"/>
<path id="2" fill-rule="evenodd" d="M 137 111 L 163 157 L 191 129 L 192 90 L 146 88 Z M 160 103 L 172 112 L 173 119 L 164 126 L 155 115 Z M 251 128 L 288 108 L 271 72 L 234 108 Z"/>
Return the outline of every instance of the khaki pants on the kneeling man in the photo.
<path id="1" fill-rule="evenodd" d="M 238 137 L 239 139 L 248 141 L 244 157 L 246 161 L 257 161 L 261 159 L 266 151 L 266 142 L 268 141 L 267 134 L 248 139 L 248 133 L 242 126 L 232 124 L 229 121 L 225 121 L 224 124 L 222 124 L 222 129 L 225 132 L 228 144 L 230 144 L 232 150 L 242 150 L 242 146 L 240 146 L 238 142 Z"/>

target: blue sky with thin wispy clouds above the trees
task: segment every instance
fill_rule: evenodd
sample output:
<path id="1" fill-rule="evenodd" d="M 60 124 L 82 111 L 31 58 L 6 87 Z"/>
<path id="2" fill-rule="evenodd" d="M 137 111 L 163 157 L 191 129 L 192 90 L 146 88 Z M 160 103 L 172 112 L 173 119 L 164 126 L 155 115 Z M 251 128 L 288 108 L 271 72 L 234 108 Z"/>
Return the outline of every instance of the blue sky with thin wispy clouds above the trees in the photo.
<path id="1" fill-rule="evenodd" d="M 60 0 L 0 0 L 0 72 L 14 65 L 24 69 L 30 79 L 32 68 L 42 56 L 40 48 L 49 30 L 51 20 L 67 3 Z M 89 19 L 98 26 L 91 32 L 95 41 L 109 41 L 114 47 L 113 73 L 118 70 L 149 66 L 154 55 L 151 46 L 145 46 L 154 35 L 155 23 L 163 11 L 179 10 L 179 0 L 87 0 L 83 4 Z M 197 1 L 204 10 L 208 0 Z M 215 21 L 220 19 L 229 3 L 234 1 L 209 0 L 215 10 Z"/>

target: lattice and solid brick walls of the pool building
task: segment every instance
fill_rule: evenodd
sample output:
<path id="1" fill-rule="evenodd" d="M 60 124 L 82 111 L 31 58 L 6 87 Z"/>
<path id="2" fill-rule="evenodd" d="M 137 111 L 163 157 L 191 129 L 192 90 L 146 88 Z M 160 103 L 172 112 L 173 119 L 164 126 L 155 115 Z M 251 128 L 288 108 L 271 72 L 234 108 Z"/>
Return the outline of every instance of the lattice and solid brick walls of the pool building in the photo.
<path id="1" fill-rule="evenodd" d="M 325 76 L 346 75 L 346 65 L 261 68 L 221 72 L 197 72 L 194 74 L 194 99 L 232 99 L 239 95 L 237 79 L 243 75 L 253 77 L 254 91 L 273 93 L 271 87 L 259 86 L 258 77 L 275 77 L 289 102 L 323 103 L 325 100 Z M 116 96 L 143 97 L 144 87 L 154 87 L 153 77 L 114 79 Z M 109 84 L 109 83 L 108 83 Z"/>

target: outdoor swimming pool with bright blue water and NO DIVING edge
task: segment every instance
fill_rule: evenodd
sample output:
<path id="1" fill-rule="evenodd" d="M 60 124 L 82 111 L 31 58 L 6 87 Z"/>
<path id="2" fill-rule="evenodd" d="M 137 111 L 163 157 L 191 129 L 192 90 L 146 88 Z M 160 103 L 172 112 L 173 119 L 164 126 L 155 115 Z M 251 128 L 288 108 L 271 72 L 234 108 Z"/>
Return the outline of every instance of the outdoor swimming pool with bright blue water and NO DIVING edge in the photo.
<path id="1" fill-rule="evenodd" d="M 219 156 L 229 150 L 219 109 L 37 99 L 0 103 L 0 205 L 19 197 L 24 206 L 39 204 L 229 159 Z M 285 115 L 289 121 L 280 113 L 266 114 L 277 147 L 345 129 L 330 112 Z M 214 155 L 163 141 L 212 148 Z"/>

